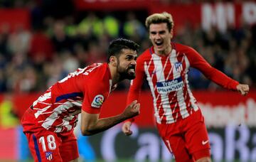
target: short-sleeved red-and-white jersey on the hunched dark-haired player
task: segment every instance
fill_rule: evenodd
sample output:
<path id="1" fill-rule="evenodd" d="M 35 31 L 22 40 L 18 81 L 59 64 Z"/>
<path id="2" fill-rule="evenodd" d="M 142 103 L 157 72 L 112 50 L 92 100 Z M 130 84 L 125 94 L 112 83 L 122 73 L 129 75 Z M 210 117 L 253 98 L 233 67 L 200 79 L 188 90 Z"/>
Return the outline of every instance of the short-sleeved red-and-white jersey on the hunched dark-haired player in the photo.
<path id="1" fill-rule="evenodd" d="M 54 132 L 73 130 L 81 109 L 99 114 L 110 94 L 112 78 L 107 63 L 87 66 L 55 83 L 23 115 L 24 131 L 43 128 Z"/>

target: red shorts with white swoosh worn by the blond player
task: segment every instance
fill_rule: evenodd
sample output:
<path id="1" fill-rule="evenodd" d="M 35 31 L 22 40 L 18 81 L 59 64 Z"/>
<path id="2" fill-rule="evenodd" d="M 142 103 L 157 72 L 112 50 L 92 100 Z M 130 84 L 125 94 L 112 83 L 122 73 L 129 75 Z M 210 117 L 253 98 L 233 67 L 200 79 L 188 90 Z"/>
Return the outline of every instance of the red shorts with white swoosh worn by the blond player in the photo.
<path id="1" fill-rule="evenodd" d="M 156 124 L 177 162 L 210 158 L 210 142 L 201 110 L 174 124 Z"/>

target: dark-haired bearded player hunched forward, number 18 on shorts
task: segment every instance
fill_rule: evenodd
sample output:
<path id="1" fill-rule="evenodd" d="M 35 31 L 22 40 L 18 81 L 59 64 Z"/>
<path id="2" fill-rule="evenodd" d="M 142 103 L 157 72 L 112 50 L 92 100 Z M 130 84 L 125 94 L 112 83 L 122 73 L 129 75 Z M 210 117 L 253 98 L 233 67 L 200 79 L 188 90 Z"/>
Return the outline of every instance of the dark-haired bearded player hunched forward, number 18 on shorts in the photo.
<path id="1" fill-rule="evenodd" d="M 138 48 L 137 43 L 126 39 L 112 41 L 108 63 L 95 63 L 70 73 L 33 102 L 21 124 L 34 161 L 78 161 L 73 129 L 80 113 L 85 136 L 139 114 L 140 105 L 134 101 L 121 114 L 99 119 L 100 107 L 117 82 L 134 79 Z"/>

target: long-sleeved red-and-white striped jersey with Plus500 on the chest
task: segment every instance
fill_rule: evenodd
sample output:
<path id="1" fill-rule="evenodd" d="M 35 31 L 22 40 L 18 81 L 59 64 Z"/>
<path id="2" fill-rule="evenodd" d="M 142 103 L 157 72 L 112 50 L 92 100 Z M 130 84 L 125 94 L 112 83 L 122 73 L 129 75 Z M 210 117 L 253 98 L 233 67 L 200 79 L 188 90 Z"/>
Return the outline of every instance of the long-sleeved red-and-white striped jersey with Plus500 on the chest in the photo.
<path id="1" fill-rule="evenodd" d="M 171 124 L 198 111 L 198 104 L 188 85 L 188 69 L 196 68 L 208 79 L 235 90 L 238 82 L 211 67 L 203 57 L 186 45 L 171 43 L 169 55 L 156 55 L 154 48 L 145 50 L 137 59 L 136 77 L 131 82 L 127 104 L 139 99 L 144 77 L 149 83 L 154 103 L 154 116 L 159 124 Z"/>

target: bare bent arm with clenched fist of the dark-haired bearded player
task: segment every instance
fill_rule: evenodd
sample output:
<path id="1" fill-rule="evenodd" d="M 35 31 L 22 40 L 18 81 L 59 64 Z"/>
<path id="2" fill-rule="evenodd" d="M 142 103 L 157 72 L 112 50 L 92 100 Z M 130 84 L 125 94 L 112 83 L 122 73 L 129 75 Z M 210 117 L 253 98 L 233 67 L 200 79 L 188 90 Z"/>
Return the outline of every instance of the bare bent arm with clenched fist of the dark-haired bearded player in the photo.
<path id="1" fill-rule="evenodd" d="M 115 117 L 102 118 L 99 119 L 99 114 L 89 114 L 85 111 L 82 111 L 82 123 L 81 131 L 82 135 L 90 136 L 97 134 L 101 131 L 110 129 L 112 126 L 119 124 L 120 122 L 135 117 L 139 114 L 140 104 L 137 103 L 137 100 L 132 102 L 124 109 L 122 114 L 119 114 Z"/>

